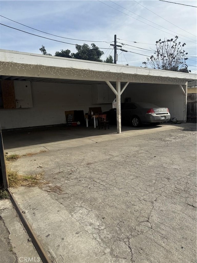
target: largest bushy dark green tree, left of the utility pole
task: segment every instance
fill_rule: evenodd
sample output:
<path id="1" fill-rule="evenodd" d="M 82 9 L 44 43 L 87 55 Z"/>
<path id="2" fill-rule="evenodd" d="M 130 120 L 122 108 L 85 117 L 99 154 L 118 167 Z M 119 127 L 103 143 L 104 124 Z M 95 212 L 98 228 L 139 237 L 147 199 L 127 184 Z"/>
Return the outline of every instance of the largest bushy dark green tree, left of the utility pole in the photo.
<path id="1" fill-rule="evenodd" d="M 94 43 L 91 44 L 90 48 L 87 44 L 75 45 L 77 52 L 72 53 L 72 57 L 79 60 L 91 60 L 103 62 L 100 57 L 104 54 Z"/>

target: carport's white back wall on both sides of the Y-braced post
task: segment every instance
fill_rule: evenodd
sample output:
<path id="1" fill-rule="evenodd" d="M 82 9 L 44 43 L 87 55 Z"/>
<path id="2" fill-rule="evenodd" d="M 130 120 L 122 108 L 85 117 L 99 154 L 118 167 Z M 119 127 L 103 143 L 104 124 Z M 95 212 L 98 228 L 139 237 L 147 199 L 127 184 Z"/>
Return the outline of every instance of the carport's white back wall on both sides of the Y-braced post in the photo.
<path id="1" fill-rule="evenodd" d="M 33 127 L 65 123 L 66 110 L 83 110 L 101 107 L 111 109 L 111 104 L 92 104 L 91 85 L 32 82 L 33 108 L 0 109 L 2 129 Z M 135 84 L 128 85 L 121 96 L 122 102 L 131 97 L 134 102 L 150 102 L 168 107 L 171 117 L 183 121 L 184 96 L 178 85 Z"/>

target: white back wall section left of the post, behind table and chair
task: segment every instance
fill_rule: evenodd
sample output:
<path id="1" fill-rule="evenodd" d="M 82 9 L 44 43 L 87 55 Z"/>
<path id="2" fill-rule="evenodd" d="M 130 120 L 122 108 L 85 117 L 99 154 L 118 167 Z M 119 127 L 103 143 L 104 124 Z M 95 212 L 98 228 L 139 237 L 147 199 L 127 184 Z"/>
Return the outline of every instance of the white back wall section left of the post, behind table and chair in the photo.
<path id="1" fill-rule="evenodd" d="M 101 107 L 111 104 L 92 104 L 91 85 L 31 82 L 33 108 L 0 109 L 2 129 L 53 125 L 66 122 L 65 111 Z"/>

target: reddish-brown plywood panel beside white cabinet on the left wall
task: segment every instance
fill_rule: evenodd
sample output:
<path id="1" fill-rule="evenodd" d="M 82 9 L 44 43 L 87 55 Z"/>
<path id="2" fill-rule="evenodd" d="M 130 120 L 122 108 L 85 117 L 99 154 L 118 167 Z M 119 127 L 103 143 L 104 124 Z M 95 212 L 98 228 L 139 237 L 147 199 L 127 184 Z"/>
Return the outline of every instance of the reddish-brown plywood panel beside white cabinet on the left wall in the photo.
<path id="1" fill-rule="evenodd" d="M 4 109 L 16 108 L 14 81 L 1 80 L 1 88 L 2 88 L 3 108 Z"/>

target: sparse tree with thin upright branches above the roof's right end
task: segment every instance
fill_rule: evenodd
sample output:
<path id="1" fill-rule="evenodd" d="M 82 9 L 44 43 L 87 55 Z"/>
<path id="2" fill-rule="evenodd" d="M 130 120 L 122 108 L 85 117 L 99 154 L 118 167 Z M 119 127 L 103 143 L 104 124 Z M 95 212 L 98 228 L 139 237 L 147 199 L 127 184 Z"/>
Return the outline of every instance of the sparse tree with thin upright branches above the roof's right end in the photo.
<path id="1" fill-rule="evenodd" d="M 156 51 L 154 55 L 147 58 L 147 62 L 143 62 L 146 68 L 151 68 L 179 71 L 179 72 L 191 72 L 187 69 L 187 57 L 188 53 L 185 52 L 184 46 L 186 43 L 181 44 L 178 42 L 178 36 L 175 39 L 159 39 L 156 41 Z"/>

